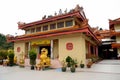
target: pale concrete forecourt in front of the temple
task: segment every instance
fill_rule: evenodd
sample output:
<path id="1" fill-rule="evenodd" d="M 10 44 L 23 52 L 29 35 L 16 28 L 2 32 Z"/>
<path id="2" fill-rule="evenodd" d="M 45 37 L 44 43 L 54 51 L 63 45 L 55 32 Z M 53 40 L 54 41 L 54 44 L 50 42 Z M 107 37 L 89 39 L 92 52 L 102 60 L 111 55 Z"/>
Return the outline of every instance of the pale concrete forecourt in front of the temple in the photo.
<path id="1" fill-rule="evenodd" d="M 45 71 L 0 66 L 0 80 L 120 80 L 120 60 L 103 60 L 92 68 L 77 68 L 75 73 L 60 69 Z"/>

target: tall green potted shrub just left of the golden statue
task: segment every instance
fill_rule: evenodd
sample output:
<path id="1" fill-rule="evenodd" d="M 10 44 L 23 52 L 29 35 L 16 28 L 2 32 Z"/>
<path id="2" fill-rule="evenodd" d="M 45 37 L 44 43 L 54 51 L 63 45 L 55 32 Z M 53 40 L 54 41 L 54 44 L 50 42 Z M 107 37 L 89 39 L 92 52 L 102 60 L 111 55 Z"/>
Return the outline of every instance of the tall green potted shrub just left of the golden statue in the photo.
<path id="1" fill-rule="evenodd" d="M 37 57 L 37 53 L 35 52 L 34 49 L 31 49 L 29 51 L 31 70 L 34 70 L 34 65 L 36 64 L 36 57 Z"/>

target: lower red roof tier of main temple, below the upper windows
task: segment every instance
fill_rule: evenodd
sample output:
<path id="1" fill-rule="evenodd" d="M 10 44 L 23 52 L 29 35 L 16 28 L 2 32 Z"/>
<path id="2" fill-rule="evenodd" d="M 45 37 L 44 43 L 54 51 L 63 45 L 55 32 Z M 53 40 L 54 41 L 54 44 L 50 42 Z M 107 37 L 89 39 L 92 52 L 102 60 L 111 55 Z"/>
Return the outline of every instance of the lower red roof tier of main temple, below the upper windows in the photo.
<path id="1" fill-rule="evenodd" d="M 35 34 L 29 34 L 29 35 L 21 35 L 21 36 L 16 36 L 16 37 L 7 37 L 8 42 L 16 42 L 16 41 L 26 41 L 26 40 L 33 40 L 33 39 L 38 39 L 38 38 L 47 38 L 47 37 L 52 37 L 52 36 L 61 36 L 61 35 L 68 35 L 68 34 L 75 34 L 75 33 L 86 33 L 87 36 L 91 36 L 95 42 L 100 43 L 100 41 L 96 38 L 96 36 L 93 34 L 91 29 L 86 26 L 83 28 L 70 28 L 67 30 L 61 30 L 61 31 L 56 31 L 52 33 L 35 33 Z"/>

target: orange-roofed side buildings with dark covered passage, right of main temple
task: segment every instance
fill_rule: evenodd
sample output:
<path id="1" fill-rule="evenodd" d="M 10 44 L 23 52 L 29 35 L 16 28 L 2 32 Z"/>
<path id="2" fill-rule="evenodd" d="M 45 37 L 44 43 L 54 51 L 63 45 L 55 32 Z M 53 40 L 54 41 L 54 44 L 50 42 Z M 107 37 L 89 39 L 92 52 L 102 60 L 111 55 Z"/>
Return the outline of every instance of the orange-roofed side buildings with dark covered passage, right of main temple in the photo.
<path id="1" fill-rule="evenodd" d="M 98 55 L 103 59 L 118 59 L 120 57 L 120 18 L 109 20 L 109 30 L 92 28 L 93 33 L 101 41 Z"/>

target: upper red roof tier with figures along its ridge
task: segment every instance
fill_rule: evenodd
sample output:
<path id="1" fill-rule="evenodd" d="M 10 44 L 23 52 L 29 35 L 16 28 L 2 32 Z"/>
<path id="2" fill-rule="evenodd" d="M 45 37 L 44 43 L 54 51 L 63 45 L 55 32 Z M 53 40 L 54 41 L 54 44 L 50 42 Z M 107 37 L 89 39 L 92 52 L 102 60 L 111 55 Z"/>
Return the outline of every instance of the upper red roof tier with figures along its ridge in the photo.
<path id="1" fill-rule="evenodd" d="M 81 19 L 82 21 L 86 20 L 86 16 L 83 11 L 83 7 L 79 7 L 79 5 L 77 5 L 74 9 L 70 10 L 68 13 L 67 12 L 65 12 L 65 13 L 59 12 L 58 15 L 55 15 L 55 16 L 50 15 L 47 18 L 46 18 L 46 15 L 44 15 L 42 20 L 38 20 L 35 22 L 30 22 L 30 23 L 18 22 L 18 28 L 25 29 L 25 28 L 28 28 L 28 27 L 31 27 L 34 25 L 52 22 L 52 21 L 60 20 L 60 19 L 64 19 L 64 18 L 70 18 L 70 17 L 77 17 L 77 18 Z"/>

